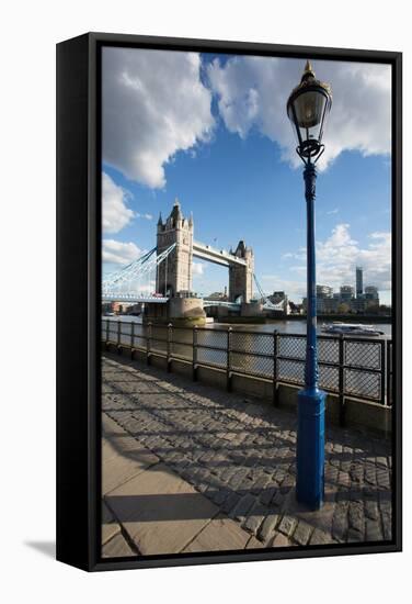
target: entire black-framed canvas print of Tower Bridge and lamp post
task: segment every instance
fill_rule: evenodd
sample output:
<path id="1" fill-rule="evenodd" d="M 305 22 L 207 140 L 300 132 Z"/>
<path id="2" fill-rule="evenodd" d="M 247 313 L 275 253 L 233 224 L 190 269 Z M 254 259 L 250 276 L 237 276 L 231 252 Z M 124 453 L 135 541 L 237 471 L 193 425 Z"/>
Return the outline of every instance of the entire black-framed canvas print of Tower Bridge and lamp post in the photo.
<path id="1" fill-rule="evenodd" d="M 57 558 L 401 549 L 401 55 L 57 45 Z"/>

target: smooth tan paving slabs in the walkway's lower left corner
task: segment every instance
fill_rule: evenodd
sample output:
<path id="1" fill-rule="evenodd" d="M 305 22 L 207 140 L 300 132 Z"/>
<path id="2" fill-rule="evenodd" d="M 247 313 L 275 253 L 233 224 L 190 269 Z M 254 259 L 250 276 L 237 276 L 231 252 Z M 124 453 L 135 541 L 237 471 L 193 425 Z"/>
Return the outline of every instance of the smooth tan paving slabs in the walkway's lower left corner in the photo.
<path id="1" fill-rule="evenodd" d="M 218 506 L 105 413 L 102 423 L 103 482 L 117 483 L 102 502 L 104 557 L 247 547 L 250 535 Z"/>

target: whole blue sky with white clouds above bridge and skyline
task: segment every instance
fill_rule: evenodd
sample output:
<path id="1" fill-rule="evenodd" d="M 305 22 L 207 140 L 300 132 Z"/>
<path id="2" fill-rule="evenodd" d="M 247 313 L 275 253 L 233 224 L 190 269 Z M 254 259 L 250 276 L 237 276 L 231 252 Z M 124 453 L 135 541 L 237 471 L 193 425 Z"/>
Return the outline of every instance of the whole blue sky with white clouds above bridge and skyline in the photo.
<path id="1" fill-rule="evenodd" d="M 244 239 L 264 291 L 301 301 L 302 165 L 284 101 L 305 61 L 119 51 L 103 55 L 104 272 L 153 247 L 159 212 L 179 198 L 196 239 L 225 249 Z M 317 183 L 318 282 L 353 284 L 360 264 L 364 283 L 390 302 L 389 68 L 314 69 L 334 94 Z M 364 97 L 346 90 L 354 79 Z M 201 293 L 228 282 L 208 262 L 195 260 L 194 272 Z"/>

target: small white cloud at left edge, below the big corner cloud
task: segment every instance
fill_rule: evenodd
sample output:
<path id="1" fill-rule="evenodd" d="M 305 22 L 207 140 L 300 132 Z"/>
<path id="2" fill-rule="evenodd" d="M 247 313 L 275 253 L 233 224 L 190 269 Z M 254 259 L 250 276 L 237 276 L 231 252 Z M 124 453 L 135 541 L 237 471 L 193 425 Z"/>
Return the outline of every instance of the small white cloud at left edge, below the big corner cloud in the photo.
<path id="1" fill-rule="evenodd" d="M 127 208 L 128 193 L 118 187 L 112 178 L 102 172 L 102 227 L 104 233 L 118 233 L 134 217 L 134 212 Z"/>

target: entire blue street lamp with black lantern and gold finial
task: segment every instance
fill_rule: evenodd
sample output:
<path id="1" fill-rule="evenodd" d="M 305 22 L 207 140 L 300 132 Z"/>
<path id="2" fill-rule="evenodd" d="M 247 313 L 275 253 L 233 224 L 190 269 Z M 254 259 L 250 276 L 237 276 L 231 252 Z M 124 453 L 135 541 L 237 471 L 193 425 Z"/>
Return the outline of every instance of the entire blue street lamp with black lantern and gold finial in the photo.
<path id="1" fill-rule="evenodd" d="M 324 150 L 322 135 L 332 105 L 331 89 L 316 79 L 307 61 L 299 86 L 287 101 L 287 115 L 296 131 L 296 153 L 305 164 L 307 202 L 307 344 L 305 388 L 298 393 L 296 496 L 313 510 L 322 506 L 324 495 L 324 402 L 318 388 L 317 292 L 314 250 L 316 163 Z"/>

